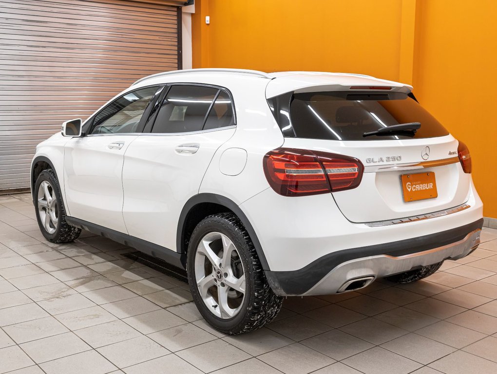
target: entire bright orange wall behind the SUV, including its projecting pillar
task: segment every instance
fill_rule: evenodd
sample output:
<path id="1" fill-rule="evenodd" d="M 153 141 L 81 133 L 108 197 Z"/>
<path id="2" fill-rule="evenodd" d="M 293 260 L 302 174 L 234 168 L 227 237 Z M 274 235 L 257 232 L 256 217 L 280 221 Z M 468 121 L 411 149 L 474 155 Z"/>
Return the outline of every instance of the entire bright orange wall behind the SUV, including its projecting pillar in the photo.
<path id="1" fill-rule="evenodd" d="M 470 148 L 484 213 L 497 218 L 496 182 L 484 170 L 496 160 L 490 147 L 496 138 L 490 122 L 490 107 L 497 107 L 490 92 L 497 88 L 496 3 L 195 0 L 193 67 L 349 72 L 414 82 L 419 101 Z M 475 78 L 478 94 L 468 91 Z M 483 137 L 475 123 L 484 124 Z"/>

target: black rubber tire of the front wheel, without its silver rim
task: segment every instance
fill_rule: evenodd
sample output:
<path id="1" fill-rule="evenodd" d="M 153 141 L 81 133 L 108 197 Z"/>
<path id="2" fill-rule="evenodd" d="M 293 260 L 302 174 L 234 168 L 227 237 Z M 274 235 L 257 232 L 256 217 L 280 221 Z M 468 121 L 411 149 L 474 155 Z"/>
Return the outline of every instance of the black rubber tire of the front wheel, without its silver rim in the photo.
<path id="1" fill-rule="evenodd" d="M 45 229 L 43 223 L 41 222 L 40 213 L 38 211 L 38 189 L 40 188 L 40 184 L 43 181 L 47 181 L 48 183 L 50 183 L 53 191 L 55 192 L 55 198 L 57 200 L 57 207 L 55 209 L 57 210 L 59 222 L 57 228 L 55 229 L 55 232 L 53 233 L 50 233 Z M 35 202 L 36 221 L 38 221 L 38 226 L 40 226 L 41 233 L 43 234 L 43 236 L 45 236 L 45 238 L 47 238 L 48 241 L 51 241 L 52 243 L 67 243 L 70 241 L 74 241 L 80 236 L 81 228 L 71 226 L 66 222 L 66 210 L 64 207 L 64 202 L 62 200 L 59 181 L 57 180 L 57 177 L 55 176 L 55 173 L 52 169 L 45 169 L 40 173 L 40 175 L 38 175 L 34 186 L 33 196 Z"/>

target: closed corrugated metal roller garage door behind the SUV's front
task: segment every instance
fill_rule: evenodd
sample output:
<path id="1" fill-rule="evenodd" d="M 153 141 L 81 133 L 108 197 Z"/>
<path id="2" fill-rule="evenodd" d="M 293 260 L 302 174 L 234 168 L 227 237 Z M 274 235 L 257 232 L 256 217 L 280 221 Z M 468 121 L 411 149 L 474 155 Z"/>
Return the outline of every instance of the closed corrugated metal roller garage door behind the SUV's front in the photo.
<path id="1" fill-rule="evenodd" d="M 36 145 L 63 121 L 180 69 L 179 22 L 156 3 L 0 0 L 0 191 L 29 187 Z"/>

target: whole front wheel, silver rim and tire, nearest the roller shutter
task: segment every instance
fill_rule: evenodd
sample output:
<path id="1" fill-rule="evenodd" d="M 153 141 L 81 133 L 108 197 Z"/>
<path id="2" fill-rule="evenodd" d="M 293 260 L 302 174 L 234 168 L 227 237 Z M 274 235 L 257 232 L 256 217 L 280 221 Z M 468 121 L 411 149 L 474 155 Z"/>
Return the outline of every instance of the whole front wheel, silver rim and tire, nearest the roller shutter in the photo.
<path id="1" fill-rule="evenodd" d="M 66 222 L 66 211 L 59 182 L 52 169 L 43 170 L 34 187 L 36 220 L 40 231 L 53 243 L 66 243 L 77 239 L 81 229 Z"/>

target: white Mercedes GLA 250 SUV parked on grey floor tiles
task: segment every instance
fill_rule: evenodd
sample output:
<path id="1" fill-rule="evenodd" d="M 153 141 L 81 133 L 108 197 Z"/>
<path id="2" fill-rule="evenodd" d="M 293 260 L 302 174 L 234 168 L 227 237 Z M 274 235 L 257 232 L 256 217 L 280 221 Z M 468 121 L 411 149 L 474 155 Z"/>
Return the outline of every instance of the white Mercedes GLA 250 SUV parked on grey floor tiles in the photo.
<path id="1" fill-rule="evenodd" d="M 419 280 L 476 249 L 483 219 L 468 149 L 411 91 L 317 72 L 145 77 L 37 147 L 40 229 L 186 268 L 229 334 L 271 321 L 282 296 Z"/>

